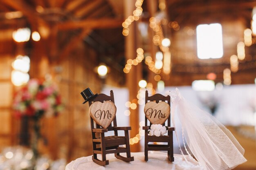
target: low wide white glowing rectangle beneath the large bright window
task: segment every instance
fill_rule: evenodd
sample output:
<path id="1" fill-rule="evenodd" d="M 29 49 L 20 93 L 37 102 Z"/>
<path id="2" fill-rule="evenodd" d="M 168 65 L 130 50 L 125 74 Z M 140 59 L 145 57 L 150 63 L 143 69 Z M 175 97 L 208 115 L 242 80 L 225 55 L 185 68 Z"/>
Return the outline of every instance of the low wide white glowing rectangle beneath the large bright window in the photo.
<path id="1" fill-rule="evenodd" d="M 213 91 L 215 84 L 213 80 L 195 80 L 192 82 L 194 91 Z"/>

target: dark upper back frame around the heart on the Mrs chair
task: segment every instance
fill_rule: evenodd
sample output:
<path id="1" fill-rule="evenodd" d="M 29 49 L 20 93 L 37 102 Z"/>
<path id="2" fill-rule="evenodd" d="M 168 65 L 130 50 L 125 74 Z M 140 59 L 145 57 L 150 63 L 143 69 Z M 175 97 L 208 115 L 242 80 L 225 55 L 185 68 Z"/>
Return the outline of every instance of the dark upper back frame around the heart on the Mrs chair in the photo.
<path id="1" fill-rule="evenodd" d="M 156 103 L 159 103 L 159 102 L 166 102 L 168 103 L 169 106 L 171 106 L 171 97 L 168 95 L 168 96 L 164 96 L 164 95 L 161 95 L 161 94 L 155 94 L 155 95 L 152 95 L 152 96 L 148 96 L 148 91 L 146 91 L 146 94 L 145 94 L 145 104 L 147 104 L 148 102 L 156 102 Z M 151 126 L 152 124 L 149 122 L 149 126 Z M 166 126 L 166 122 L 164 122 L 164 125 Z M 148 126 L 148 119 L 145 115 L 145 126 Z M 171 114 L 169 115 L 168 119 L 167 119 L 167 126 L 171 126 Z"/>

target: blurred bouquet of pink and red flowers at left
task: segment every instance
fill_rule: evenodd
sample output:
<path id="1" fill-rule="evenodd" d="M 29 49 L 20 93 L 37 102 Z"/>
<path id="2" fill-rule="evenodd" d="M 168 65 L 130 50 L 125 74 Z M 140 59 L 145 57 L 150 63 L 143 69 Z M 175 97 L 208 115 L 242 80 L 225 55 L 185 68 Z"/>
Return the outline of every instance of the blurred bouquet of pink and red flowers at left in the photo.
<path id="1" fill-rule="evenodd" d="M 63 104 L 55 84 L 31 79 L 16 93 L 13 108 L 17 117 L 51 117 L 58 115 L 63 109 Z"/>

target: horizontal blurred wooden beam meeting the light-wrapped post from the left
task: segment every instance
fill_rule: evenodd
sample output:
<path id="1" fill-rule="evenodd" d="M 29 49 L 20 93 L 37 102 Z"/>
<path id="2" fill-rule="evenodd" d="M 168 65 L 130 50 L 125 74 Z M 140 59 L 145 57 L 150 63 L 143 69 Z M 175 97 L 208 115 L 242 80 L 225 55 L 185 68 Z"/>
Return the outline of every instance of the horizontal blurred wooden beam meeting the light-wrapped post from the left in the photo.
<path id="1" fill-rule="evenodd" d="M 106 29 L 106 28 L 118 28 L 121 27 L 123 20 L 112 19 L 112 18 L 101 18 L 101 19 L 87 19 L 81 21 L 67 21 L 57 24 L 58 29 Z"/>

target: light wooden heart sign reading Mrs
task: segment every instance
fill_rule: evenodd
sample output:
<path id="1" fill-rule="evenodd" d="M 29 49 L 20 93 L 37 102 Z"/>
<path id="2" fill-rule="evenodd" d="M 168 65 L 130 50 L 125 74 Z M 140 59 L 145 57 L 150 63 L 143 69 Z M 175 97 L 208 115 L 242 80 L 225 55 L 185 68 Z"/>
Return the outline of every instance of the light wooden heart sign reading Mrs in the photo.
<path id="1" fill-rule="evenodd" d="M 164 124 L 170 115 L 170 106 L 166 102 L 148 102 L 144 113 L 151 124 Z"/>

